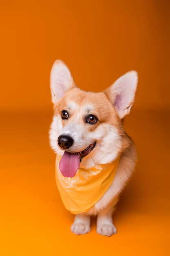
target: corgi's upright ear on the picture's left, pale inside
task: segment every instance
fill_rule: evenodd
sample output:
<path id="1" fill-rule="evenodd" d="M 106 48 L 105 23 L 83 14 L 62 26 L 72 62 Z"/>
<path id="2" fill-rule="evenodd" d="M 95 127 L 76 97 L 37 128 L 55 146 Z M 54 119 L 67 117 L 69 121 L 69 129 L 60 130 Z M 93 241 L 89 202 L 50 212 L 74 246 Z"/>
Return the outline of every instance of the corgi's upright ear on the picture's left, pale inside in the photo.
<path id="1" fill-rule="evenodd" d="M 68 90 L 74 87 L 76 85 L 66 64 L 61 60 L 55 61 L 50 74 L 52 102 L 57 103 Z"/>

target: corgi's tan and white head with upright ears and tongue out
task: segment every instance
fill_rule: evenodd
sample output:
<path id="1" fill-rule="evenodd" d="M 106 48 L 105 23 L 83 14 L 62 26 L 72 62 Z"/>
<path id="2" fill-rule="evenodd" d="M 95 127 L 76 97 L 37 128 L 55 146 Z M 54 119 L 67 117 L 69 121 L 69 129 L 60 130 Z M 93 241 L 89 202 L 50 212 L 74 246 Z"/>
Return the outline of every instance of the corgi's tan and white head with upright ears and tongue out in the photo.
<path id="1" fill-rule="evenodd" d="M 64 161 L 72 163 L 72 168 L 75 165 L 72 174 L 64 175 L 74 176 L 80 162 L 82 168 L 112 162 L 126 148 L 121 120 L 130 112 L 136 85 L 137 73 L 131 71 L 104 92 L 85 92 L 76 87 L 62 61 L 54 63 L 51 70 L 54 103 L 51 147 L 57 154 L 64 153 Z M 66 168 L 64 163 L 61 168 Z"/>

